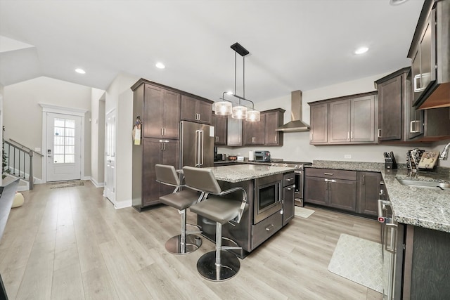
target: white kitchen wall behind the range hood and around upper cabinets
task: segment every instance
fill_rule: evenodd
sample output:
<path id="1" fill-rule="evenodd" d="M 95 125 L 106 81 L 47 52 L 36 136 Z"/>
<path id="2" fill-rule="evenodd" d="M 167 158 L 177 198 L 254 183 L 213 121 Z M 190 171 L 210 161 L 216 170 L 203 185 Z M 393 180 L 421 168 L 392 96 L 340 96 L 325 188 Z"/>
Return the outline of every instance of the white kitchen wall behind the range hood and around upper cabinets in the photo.
<path id="1" fill-rule="evenodd" d="M 302 118 L 309 124 L 309 105 L 307 103 L 328 98 L 353 95 L 375 91 L 373 81 L 384 77 L 386 74 L 373 75 L 362 79 L 347 81 L 341 84 L 326 86 L 321 89 L 303 91 Z M 290 94 L 263 103 L 257 103 L 257 110 L 269 110 L 281 107 L 286 110 L 284 122 L 290 121 Z M 393 151 L 397 162 L 406 163 L 406 151 L 413 148 L 425 150 L 442 150 L 449 141 L 434 143 L 432 145 L 309 145 L 309 131 L 285 132 L 282 147 L 245 147 L 245 148 L 219 148 L 218 152 L 228 155 L 243 155 L 248 157 L 249 150 L 269 150 L 271 157 L 285 160 L 312 162 L 314 159 L 339 160 L 352 162 L 384 162 L 383 152 Z M 351 155 L 351 159 L 345 159 L 344 155 Z M 439 165 L 450 167 L 449 161 L 439 162 Z"/>

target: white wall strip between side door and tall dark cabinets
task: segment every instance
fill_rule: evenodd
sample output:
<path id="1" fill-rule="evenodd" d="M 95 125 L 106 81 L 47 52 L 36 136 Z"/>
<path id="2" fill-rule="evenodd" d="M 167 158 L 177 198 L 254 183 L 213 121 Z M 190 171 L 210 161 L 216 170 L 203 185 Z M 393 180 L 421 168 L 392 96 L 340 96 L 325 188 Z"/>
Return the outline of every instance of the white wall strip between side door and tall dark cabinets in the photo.
<path id="1" fill-rule="evenodd" d="M 116 109 L 115 207 L 131 207 L 131 166 L 133 128 L 133 92 L 130 87 L 140 78 L 117 76 L 106 91 L 105 112 Z"/>

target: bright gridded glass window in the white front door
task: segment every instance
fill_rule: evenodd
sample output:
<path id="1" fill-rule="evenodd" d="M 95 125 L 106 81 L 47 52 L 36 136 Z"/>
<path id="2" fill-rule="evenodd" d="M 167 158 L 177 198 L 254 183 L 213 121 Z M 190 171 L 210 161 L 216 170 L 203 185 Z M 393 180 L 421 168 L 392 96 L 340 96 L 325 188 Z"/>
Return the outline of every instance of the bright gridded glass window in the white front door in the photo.
<path id="1" fill-rule="evenodd" d="M 56 164 L 75 162 L 75 119 L 55 118 L 53 157 Z"/>

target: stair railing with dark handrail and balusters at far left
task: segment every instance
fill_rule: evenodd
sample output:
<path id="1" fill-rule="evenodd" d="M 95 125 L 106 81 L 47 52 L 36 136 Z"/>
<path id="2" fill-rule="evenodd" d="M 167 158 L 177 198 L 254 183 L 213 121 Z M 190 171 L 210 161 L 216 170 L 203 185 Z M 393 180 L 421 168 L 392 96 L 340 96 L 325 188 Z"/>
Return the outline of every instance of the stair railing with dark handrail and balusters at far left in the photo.
<path id="1" fill-rule="evenodd" d="M 28 181 L 30 190 L 33 189 L 33 156 L 34 153 L 44 157 L 38 153 L 13 139 L 3 141 L 3 148 L 6 154 L 6 166 L 3 171 Z"/>

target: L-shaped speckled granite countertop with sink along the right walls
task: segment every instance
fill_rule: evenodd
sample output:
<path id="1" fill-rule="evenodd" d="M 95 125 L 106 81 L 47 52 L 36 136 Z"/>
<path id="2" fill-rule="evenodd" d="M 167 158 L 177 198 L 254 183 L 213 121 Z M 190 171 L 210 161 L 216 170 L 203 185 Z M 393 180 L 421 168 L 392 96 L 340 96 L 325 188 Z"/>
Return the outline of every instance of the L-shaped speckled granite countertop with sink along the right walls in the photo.
<path id="1" fill-rule="evenodd" d="M 421 172 L 410 175 L 405 168 L 385 169 L 383 163 L 314 161 L 312 168 L 377 171 L 383 175 L 392 202 L 394 220 L 399 223 L 441 230 L 450 233 L 450 190 L 416 188 L 399 183 L 397 178 L 417 181 L 450 183 L 448 169 L 437 173 Z"/>

